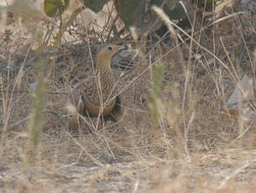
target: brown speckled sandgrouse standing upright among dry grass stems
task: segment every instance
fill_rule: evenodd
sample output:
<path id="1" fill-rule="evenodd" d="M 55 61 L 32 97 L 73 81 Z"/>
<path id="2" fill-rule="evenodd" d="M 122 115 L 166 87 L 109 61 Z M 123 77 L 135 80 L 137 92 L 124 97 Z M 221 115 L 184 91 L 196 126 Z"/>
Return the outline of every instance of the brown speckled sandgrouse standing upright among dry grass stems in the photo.
<path id="1" fill-rule="evenodd" d="M 104 118 L 110 117 L 114 121 L 119 121 L 123 117 L 121 96 L 110 66 L 112 57 L 122 49 L 123 46 L 107 44 L 98 50 L 94 76 L 82 82 L 77 89 L 79 92 L 77 109 L 81 115 L 90 117 L 101 115 Z"/>

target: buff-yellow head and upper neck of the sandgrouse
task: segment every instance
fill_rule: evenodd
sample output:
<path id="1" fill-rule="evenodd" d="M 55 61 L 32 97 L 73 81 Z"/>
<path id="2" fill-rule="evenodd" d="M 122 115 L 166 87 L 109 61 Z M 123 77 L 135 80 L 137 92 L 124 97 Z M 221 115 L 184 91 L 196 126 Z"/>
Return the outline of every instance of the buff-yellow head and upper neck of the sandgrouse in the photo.
<path id="1" fill-rule="evenodd" d="M 123 46 L 117 44 L 107 44 L 102 46 L 97 52 L 97 68 L 110 70 L 110 61 L 112 60 L 112 57 L 120 50 L 123 50 L 123 48 Z"/>

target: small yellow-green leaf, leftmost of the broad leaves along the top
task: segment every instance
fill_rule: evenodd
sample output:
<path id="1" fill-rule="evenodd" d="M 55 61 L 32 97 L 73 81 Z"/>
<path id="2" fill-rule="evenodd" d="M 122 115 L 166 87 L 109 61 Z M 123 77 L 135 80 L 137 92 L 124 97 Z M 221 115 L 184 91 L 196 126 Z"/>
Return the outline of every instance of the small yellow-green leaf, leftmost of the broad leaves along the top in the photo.
<path id="1" fill-rule="evenodd" d="M 60 16 L 69 7 L 70 0 L 44 0 L 44 12 L 50 18 Z"/>

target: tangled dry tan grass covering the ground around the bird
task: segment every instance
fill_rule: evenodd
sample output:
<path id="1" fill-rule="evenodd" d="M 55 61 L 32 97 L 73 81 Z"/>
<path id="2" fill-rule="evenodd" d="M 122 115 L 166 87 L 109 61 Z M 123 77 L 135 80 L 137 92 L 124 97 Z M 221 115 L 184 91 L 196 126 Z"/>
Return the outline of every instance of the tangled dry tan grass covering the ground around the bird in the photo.
<path id="1" fill-rule="evenodd" d="M 78 29 L 80 44 L 34 52 L 33 35 L 1 34 L 0 191 L 254 192 L 255 121 L 221 112 L 244 74 L 255 80 L 253 23 L 217 19 L 184 31 L 165 19 L 177 39 L 135 39 L 137 67 L 118 83 L 123 121 L 79 129 L 67 127 L 68 96 L 91 75 L 97 35 Z"/>

